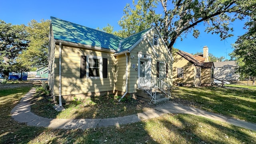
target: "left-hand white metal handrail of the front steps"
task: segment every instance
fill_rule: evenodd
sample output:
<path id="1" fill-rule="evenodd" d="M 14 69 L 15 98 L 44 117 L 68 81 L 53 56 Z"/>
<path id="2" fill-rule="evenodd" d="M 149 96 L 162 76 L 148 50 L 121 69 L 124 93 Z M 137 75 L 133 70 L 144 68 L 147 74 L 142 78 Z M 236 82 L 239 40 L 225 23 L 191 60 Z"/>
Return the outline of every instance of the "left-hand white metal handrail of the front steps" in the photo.
<path id="1" fill-rule="evenodd" d="M 154 86 L 154 84 L 152 84 L 149 80 L 140 77 L 138 79 L 138 88 L 145 90 L 152 97 L 150 103 L 153 100 L 156 102 L 156 86 Z"/>

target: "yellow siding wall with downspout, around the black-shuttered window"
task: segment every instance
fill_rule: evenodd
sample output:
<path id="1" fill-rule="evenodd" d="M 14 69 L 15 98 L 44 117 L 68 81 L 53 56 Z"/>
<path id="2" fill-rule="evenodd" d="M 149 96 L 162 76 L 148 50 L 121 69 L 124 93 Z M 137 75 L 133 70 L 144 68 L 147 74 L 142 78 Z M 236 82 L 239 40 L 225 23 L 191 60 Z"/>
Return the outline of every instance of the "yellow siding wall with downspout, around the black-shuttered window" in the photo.
<path id="1" fill-rule="evenodd" d="M 59 45 L 56 45 L 55 52 L 57 53 L 58 50 Z M 58 56 L 55 55 L 54 62 L 53 96 L 58 96 L 59 92 Z M 80 78 L 80 56 L 107 58 L 107 78 Z M 114 56 L 108 52 L 92 51 L 62 44 L 61 73 L 61 94 L 64 100 L 67 101 L 73 100 L 73 97 L 85 98 L 91 95 L 112 94 L 116 89 L 116 62 Z"/>

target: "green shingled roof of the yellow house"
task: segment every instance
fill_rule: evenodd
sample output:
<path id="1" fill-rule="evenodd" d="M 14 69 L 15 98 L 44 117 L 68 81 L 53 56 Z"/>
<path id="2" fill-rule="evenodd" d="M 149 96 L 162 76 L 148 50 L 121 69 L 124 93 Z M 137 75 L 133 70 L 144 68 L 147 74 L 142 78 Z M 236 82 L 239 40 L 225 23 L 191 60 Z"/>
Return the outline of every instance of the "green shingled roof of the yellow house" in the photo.
<path id="1" fill-rule="evenodd" d="M 116 53 L 124 52 L 134 45 L 148 30 L 143 30 L 128 38 L 122 38 L 108 34 L 100 30 L 74 24 L 51 16 L 52 30 L 55 40 L 63 40 L 77 44 L 96 46 L 109 50 L 116 50 Z M 121 42 L 121 45 L 119 45 Z M 119 48 L 118 48 L 119 47 Z"/>

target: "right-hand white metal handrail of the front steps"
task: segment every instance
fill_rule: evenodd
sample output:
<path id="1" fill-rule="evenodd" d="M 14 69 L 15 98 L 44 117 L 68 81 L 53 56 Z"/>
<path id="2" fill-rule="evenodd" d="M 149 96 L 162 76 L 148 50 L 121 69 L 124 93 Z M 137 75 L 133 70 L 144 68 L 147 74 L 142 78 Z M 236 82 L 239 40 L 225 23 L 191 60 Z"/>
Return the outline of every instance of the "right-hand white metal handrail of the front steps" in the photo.
<path id="1" fill-rule="evenodd" d="M 157 77 L 151 78 L 151 83 L 154 84 L 159 90 L 164 92 L 164 94 L 166 94 L 168 98 L 171 97 L 171 86 L 169 84 L 166 84 L 164 81 Z"/>

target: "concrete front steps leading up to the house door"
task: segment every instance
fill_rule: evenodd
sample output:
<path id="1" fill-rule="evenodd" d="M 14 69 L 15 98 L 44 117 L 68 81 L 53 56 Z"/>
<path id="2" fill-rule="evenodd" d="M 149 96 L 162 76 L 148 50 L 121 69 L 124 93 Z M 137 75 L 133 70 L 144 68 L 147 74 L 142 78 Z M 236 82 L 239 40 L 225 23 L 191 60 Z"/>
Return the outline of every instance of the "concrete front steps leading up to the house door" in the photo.
<path id="1" fill-rule="evenodd" d="M 150 102 L 152 100 L 152 96 L 150 96 L 148 92 L 146 92 L 146 90 L 143 89 L 137 89 L 137 98 L 145 102 Z M 156 91 L 156 102 L 152 100 L 151 103 L 160 104 L 163 102 L 168 102 L 169 100 L 170 98 L 166 98 L 166 95 L 161 94 L 161 91 Z"/>

